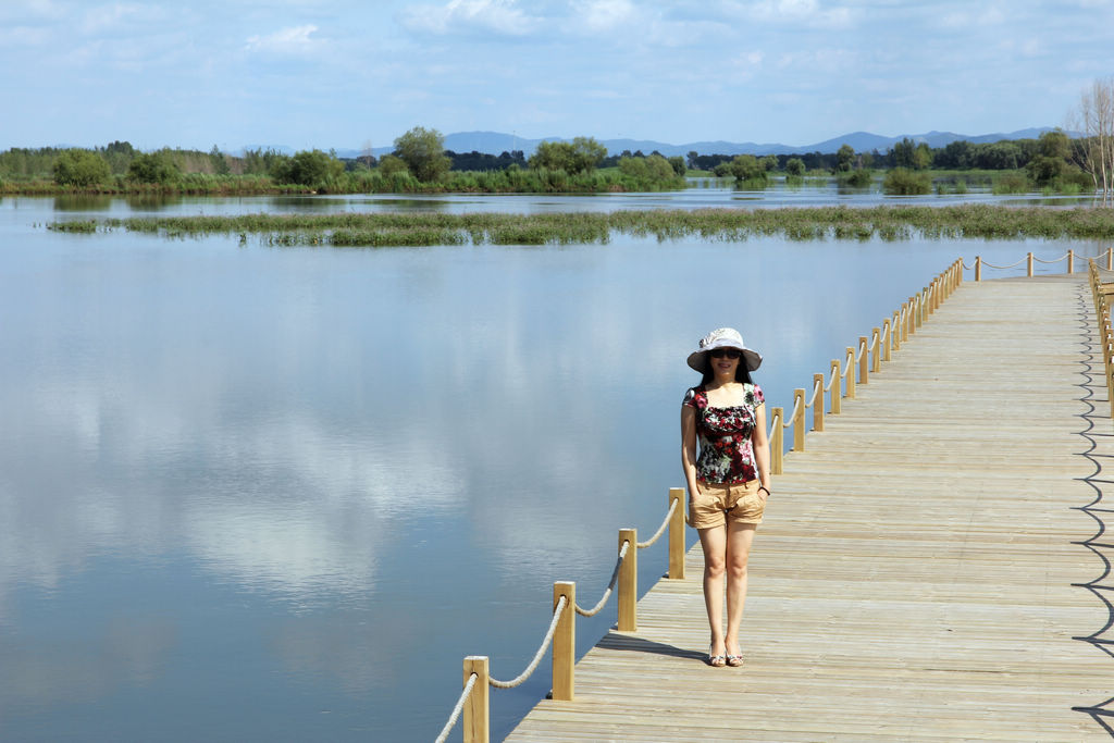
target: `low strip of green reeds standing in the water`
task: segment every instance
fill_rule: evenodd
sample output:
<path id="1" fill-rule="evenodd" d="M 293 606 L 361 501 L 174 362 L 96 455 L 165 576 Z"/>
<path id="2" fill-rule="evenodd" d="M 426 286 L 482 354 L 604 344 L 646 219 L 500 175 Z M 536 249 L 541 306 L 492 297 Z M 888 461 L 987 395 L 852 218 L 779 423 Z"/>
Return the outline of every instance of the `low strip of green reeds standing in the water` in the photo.
<path id="1" fill-rule="evenodd" d="M 1114 238 L 1114 209 L 1013 208 L 967 204 L 945 207 L 847 206 L 792 209 L 662 209 L 609 214 L 247 214 L 62 221 L 49 229 L 95 233 L 126 229 L 169 237 L 258 235 L 270 245 L 546 245 L 606 243 L 616 234 L 658 241 L 700 237 L 745 241 L 758 236 L 808 239 Z"/>

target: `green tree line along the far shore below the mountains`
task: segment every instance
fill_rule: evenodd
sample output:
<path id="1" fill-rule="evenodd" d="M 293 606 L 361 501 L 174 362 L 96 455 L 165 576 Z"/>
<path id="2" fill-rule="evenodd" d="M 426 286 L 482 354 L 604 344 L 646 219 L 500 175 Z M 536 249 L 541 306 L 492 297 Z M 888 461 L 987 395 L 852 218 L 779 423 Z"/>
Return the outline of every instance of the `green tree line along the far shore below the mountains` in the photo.
<path id="1" fill-rule="evenodd" d="M 599 192 L 683 188 L 691 170 L 733 177 L 763 187 L 773 172 L 786 178 L 834 175 L 840 183 L 868 185 L 873 169 L 887 169 L 887 187 L 926 192 L 929 169 L 1024 172 L 1023 186 L 1093 188 L 1114 198 L 1114 77 L 1096 80 L 1081 96 L 1073 121 L 1082 136 L 1056 129 L 1038 138 L 996 143 L 956 140 L 929 147 L 905 138 L 887 151 L 798 155 L 701 155 L 665 157 L 658 151 L 624 150 L 609 155 L 592 137 L 544 141 L 529 157 L 522 150 L 500 155 L 444 149 L 437 129 L 413 127 L 394 140 L 393 150 L 375 158 L 340 158 L 335 151 L 248 149 L 221 151 L 162 149 L 143 153 L 127 141 L 95 148 L 11 148 L 0 153 L 0 193 L 37 193 L 50 187 L 127 192 L 166 189 L 184 193 L 315 190 L 379 192 Z M 906 190 L 909 189 L 909 190 Z"/>

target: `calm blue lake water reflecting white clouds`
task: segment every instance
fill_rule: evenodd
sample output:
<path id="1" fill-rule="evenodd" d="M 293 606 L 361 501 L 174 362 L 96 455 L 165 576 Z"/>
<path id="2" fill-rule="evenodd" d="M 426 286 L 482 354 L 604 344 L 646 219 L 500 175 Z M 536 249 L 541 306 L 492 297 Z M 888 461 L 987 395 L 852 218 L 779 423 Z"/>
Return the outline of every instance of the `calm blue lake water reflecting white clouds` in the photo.
<path id="1" fill-rule="evenodd" d="M 786 194 L 756 204 L 841 198 Z M 617 529 L 661 521 L 701 334 L 737 326 L 786 404 L 956 256 L 1106 248 L 267 248 L 42 223 L 744 198 L 0 201 L 0 739 L 432 740 L 465 655 L 517 675 L 553 581 L 595 602 Z M 645 589 L 663 545 L 639 561 Z M 578 619 L 580 652 L 614 610 Z M 492 691 L 497 739 L 548 673 Z"/>

